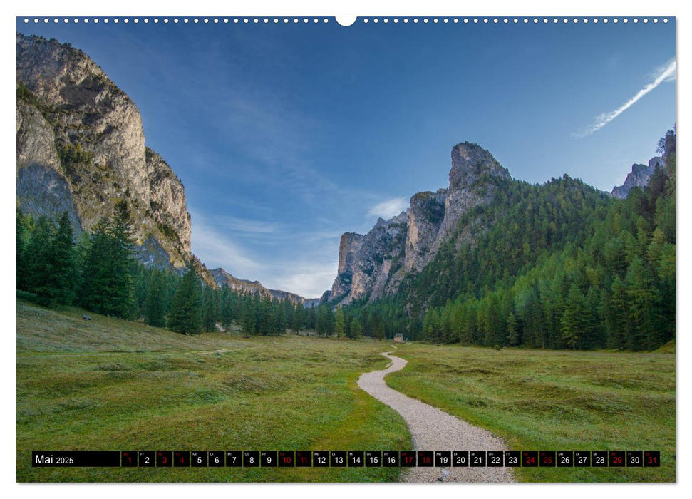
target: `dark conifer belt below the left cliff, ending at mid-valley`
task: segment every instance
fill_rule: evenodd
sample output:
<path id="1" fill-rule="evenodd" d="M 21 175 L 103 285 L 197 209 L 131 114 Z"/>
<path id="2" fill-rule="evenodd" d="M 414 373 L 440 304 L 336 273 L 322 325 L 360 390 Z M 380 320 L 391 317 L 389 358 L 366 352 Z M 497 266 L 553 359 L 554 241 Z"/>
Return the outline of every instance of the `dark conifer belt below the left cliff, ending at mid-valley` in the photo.
<path id="1" fill-rule="evenodd" d="M 130 223 L 126 202 L 120 201 L 110 219 L 100 220 L 91 235 L 75 242 L 67 214 L 56 226 L 47 217 L 33 220 L 17 210 L 19 297 L 46 307 L 74 305 L 143 320 L 183 334 L 236 325 L 244 334 L 308 329 L 320 336 L 355 337 L 344 327 L 343 312 L 335 314 L 326 305 L 304 308 L 288 300 L 239 294 L 226 286 L 211 289 L 202 283 L 194 263 L 182 276 L 146 268 L 135 259 Z"/>

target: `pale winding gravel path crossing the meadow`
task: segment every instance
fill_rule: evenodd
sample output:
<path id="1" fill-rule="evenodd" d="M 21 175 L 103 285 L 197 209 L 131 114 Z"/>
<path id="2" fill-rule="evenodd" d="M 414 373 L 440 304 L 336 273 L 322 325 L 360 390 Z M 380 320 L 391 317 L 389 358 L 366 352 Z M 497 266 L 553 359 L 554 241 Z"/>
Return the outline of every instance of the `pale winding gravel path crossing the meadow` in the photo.
<path id="1" fill-rule="evenodd" d="M 472 426 L 427 403 L 389 388 L 384 376 L 400 371 L 407 362 L 388 353 L 392 363 L 382 371 L 362 374 L 358 386 L 393 408 L 408 425 L 415 451 L 507 451 L 501 438 Z M 513 482 L 510 468 L 408 468 L 404 482 Z"/>

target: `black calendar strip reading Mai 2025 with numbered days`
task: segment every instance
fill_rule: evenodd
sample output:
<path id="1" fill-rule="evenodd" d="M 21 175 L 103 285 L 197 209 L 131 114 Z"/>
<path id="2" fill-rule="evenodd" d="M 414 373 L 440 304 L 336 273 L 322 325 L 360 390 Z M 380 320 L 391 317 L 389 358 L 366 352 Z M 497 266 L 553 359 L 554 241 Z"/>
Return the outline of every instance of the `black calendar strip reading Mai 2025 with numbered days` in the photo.
<path id="1" fill-rule="evenodd" d="M 32 451 L 34 468 L 659 467 L 660 451 Z"/>

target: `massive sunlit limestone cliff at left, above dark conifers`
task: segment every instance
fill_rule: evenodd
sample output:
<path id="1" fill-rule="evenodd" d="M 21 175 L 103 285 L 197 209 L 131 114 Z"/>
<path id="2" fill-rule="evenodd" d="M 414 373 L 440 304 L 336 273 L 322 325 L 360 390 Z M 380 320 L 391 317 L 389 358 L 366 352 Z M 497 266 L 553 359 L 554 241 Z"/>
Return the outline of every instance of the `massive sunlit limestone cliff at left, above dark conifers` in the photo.
<path id="1" fill-rule="evenodd" d="M 16 37 L 17 200 L 53 219 L 67 211 L 77 232 L 112 213 L 133 213 L 145 264 L 182 269 L 190 259 L 185 189 L 145 146 L 135 103 L 82 51 Z"/>

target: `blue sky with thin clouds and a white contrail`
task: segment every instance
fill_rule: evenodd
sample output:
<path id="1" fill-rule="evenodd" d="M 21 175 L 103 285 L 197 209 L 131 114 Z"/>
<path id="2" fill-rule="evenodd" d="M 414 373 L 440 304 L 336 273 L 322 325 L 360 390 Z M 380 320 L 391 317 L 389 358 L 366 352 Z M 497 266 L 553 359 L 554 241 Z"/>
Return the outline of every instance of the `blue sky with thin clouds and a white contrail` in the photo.
<path id="1" fill-rule="evenodd" d="M 673 19 L 17 29 L 81 48 L 133 98 L 207 267 L 307 297 L 331 287 L 342 232 L 448 185 L 455 143 L 610 191 L 676 120 Z"/>

